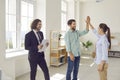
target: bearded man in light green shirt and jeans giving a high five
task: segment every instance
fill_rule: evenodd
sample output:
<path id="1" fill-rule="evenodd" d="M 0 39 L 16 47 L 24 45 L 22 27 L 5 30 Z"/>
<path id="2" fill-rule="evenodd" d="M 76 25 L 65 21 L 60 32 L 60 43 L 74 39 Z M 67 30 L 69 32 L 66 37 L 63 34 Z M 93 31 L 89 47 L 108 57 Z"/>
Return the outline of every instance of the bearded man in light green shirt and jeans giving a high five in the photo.
<path id="1" fill-rule="evenodd" d="M 66 50 L 68 52 L 68 68 L 66 80 L 71 80 L 71 72 L 73 71 L 73 80 L 77 80 L 79 63 L 80 63 L 80 37 L 87 34 L 89 25 L 86 23 L 86 30 L 80 32 L 76 30 L 76 21 L 68 20 L 69 31 L 65 34 Z"/>

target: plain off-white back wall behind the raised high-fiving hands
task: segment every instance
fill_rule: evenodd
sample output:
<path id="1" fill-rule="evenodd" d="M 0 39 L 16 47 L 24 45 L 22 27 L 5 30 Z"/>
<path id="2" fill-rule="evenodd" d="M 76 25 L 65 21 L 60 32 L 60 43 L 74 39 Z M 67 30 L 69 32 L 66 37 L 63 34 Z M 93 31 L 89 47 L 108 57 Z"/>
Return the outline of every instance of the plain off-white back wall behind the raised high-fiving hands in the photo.
<path id="1" fill-rule="evenodd" d="M 80 5 L 81 9 L 81 26 L 80 29 L 83 29 L 85 24 L 83 23 L 86 16 L 91 17 L 91 22 L 95 26 L 95 28 L 98 28 L 99 23 L 106 23 L 110 29 L 111 32 L 120 32 L 120 0 L 104 0 L 100 3 L 96 3 L 93 1 L 86 1 L 82 2 Z M 95 41 L 93 37 L 93 34 L 90 32 L 90 34 L 87 35 L 87 37 L 84 37 L 86 40 L 88 40 L 88 37 L 90 40 Z"/>

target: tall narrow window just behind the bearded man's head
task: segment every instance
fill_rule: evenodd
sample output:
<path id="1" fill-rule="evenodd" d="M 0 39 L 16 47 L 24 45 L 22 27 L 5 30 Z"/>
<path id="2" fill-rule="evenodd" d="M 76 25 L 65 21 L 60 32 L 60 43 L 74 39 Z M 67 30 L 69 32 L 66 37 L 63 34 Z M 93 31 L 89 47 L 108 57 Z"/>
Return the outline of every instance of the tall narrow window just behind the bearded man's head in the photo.
<path id="1" fill-rule="evenodd" d="M 61 1 L 61 30 L 67 30 L 67 1 Z"/>

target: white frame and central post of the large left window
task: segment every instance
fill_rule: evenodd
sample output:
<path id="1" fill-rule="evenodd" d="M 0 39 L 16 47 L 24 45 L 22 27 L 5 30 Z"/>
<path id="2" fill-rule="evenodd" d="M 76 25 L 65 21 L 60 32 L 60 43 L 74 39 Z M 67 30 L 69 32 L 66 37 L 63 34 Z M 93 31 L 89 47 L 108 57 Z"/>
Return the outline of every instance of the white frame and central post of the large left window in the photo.
<path id="1" fill-rule="evenodd" d="M 33 19 L 35 17 L 35 3 L 36 3 L 35 0 L 16 0 L 16 31 L 15 31 L 16 32 L 16 48 L 13 48 L 13 49 L 9 49 L 8 48 L 7 49 L 7 47 L 6 47 L 6 52 L 7 53 L 9 53 L 9 52 L 16 52 L 16 51 L 19 51 L 19 50 L 24 50 L 24 47 L 23 48 L 20 47 L 21 46 L 21 32 L 22 32 L 21 31 L 21 27 L 22 27 L 21 26 L 21 24 L 22 24 L 21 23 L 21 11 L 22 11 L 21 10 L 21 5 L 22 5 L 21 2 L 22 1 L 25 1 L 25 2 L 30 3 L 30 4 L 33 5 Z M 6 7 L 6 10 L 5 10 L 6 11 L 5 12 L 6 16 L 9 15 L 9 14 L 7 14 L 7 12 L 9 12 L 9 2 L 10 2 L 10 0 L 8 0 L 8 4 L 5 3 L 5 5 L 8 6 L 8 7 Z M 6 21 L 7 21 L 7 19 L 6 19 Z M 6 27 L 7 27 L 7 23 L 6 23 L 5 28 Z M 8 24 L 8 28 L 9 28 L 9 24 Z M 5 33 L 7 33 L 7 30 L 5 31 Z M 7 38 L 6 38 L 6 42 L 7 42 Z M 6 43 L 6 46 L 7 46 L 7 43 Z"/>

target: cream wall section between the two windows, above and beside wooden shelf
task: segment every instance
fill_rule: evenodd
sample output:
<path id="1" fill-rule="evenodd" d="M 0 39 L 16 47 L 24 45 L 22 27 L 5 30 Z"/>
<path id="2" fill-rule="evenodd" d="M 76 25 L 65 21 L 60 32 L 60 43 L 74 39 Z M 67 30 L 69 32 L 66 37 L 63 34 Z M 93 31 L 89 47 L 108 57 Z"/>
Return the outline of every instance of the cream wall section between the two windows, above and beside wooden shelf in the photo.
<path id="1" fill-rule="evenodd" d="M 49 40 L 51 30 L 61 30 L 61 0 L 46 0 L 46 35 Z M 50 63 L 49 47 L 46 52 L 48 65 Z"/>

